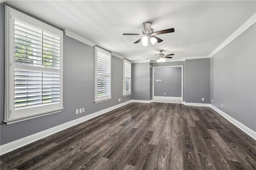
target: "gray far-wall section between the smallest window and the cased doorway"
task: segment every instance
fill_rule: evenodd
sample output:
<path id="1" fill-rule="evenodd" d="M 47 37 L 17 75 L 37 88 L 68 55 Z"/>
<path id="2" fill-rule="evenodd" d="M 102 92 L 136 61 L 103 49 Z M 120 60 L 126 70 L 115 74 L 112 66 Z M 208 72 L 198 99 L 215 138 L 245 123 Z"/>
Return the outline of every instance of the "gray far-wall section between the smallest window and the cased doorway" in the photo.
<path id="1" fill-rule="evenodd" d="M 149 63 L 132 64 L 132 99 L 150 100 Z"/>

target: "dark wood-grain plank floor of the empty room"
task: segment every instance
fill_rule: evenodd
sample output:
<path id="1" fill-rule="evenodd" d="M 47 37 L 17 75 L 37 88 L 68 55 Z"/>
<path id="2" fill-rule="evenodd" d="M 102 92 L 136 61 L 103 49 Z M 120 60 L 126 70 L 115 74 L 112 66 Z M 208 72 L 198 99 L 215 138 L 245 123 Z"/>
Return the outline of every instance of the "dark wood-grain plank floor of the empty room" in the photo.
<path id="1" fill-rule="evenodd" d="M 0 158 L 1 170 L 256 170 L 256 140 L 208 107 L 130 103 Z"/>

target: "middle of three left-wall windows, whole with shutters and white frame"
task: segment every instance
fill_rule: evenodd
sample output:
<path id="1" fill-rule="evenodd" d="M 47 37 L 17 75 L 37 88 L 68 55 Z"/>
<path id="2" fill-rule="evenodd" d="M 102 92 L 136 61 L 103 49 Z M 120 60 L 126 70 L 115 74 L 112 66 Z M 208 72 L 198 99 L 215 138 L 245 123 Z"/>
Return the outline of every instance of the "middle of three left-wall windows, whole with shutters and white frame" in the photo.
<path id="1" fill-rule="evenodd" d="M 111 99 L 111 53 L 95 46 L 94 102 Z"/>

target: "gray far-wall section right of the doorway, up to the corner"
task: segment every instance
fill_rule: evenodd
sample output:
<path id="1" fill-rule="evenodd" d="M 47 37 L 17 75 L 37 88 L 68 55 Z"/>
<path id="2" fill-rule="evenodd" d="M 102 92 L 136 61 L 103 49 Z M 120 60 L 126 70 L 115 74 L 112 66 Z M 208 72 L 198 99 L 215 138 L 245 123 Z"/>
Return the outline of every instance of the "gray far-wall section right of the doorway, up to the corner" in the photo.
<path id="1" fill-rule="evenodd" d="M 186 102 L 210 103 L 210 58 L 187 59 Z M 202 101 L 204 98 L 204 101 Z"/>

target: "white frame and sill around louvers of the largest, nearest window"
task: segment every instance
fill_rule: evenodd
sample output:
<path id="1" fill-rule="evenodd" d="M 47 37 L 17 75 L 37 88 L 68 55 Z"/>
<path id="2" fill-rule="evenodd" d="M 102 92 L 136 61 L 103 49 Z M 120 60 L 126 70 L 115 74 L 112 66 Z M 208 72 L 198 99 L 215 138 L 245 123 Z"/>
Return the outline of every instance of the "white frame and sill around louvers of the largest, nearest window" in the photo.
<path id="1" fill-rule="evenodd" d="M 12 59 L 14 57 L 14 53 L 12 51 L 13 45 L 14 45 L 14 34 L 12 34 L 12 30 L 14 30 L 14 20 L 12 20 L 12 17 L 14 17 L 15 14 L 18 14 L 20 18 L 30 18 L 30 24 L 34 24 L 40 28 L 43 28 L 44 30 L 58 33 L 60 35 L 60 103 L 59 109 L 49 109 L 49 111 L 44 112 L 38 112 L 38 108 L 35 109 L 35 114 L 33 115 L 27 115 L 24 117 L 14 117 L 15 109 L 14 109 L 14 88 L 12 88 L 12 84 L 14 85 L 14 69 L 15 69 L 15 63 Z M 32 18 L 26 14 L 23 14 L 22 12 L 19 12 L 17 10 L 14 10 L 8 6 L 5 6 L 5 108 L 4 108 L 4 122 L 6 124 L 12 124 L 20 121 L 25 121 L 28 119 L 34 119 L 36 117 L 41 117 L 44 115 L 49 115 L 53 113 L 61 112 L 63 109 L 63 32 L 61 30 L 58 30 L 57 28 L 54 28 L 48 24 L 45 24 L 44 22 L 41 22 L 39 20 L 36 20 L 35 18 Z M 22 66 L 21 66 L 22 67 Z M 50 106 L 50 105 L 49 105 Z M 40 110 L 40 109 L 39 109 Z"/>

